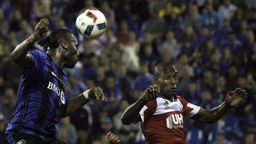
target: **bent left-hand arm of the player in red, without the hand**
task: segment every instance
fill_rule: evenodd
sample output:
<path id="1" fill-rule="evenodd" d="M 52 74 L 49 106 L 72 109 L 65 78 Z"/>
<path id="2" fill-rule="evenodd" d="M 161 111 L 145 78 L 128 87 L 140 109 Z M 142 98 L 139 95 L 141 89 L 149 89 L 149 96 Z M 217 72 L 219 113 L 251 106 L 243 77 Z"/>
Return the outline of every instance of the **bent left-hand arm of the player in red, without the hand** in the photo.
<path id="1" fill-rule="evenodd" d="M 131 123 L 135 122 L 137 116 L 140 114 L 140 110 L 145 106 L 147 102 L 142 100 L 142 97 L 135 102 L 134 104 L 130 105 L 126 111 L 124 111 L 121 121 L 123 125 L 130 125 Z"/>

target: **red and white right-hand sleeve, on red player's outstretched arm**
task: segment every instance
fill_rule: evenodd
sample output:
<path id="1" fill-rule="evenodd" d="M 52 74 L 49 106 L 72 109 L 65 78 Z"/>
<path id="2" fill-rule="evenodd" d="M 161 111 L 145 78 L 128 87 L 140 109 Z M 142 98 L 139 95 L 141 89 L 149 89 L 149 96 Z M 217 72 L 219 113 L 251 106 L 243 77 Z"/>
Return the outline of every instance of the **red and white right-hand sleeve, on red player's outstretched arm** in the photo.
<path id="1" fill-rule="evenodd" d="M 190 104 L 189 102 L 187 102 L 182 97 L 178 97 L 178 99 L 180 100 L 180 103 L 183 105 L 182 110 L 183 110 L 184 118 L 188 119 L 188 118 L 194 116 L 195 114 L 197 114 L 197 112 L 200 109 L 199 106 L 196 106 L 194 104 Z"/>

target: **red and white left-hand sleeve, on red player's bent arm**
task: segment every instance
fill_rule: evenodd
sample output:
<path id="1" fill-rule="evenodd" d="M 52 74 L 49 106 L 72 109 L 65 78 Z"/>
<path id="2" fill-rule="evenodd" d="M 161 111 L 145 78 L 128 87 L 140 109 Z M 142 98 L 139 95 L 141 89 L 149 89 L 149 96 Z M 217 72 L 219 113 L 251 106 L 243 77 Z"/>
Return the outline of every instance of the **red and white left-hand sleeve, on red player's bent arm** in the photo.
<path id="1" fill-rule="evenodd" d="M 140 117 L 142 119 L 142 122 L 139 122 L 138 124 L 142 124 L 145 120 L 150 118 L 152 114 L 156 111 L 157 102 L 156 100 L 147 102 L 145 106 L 140 110 Z"/>

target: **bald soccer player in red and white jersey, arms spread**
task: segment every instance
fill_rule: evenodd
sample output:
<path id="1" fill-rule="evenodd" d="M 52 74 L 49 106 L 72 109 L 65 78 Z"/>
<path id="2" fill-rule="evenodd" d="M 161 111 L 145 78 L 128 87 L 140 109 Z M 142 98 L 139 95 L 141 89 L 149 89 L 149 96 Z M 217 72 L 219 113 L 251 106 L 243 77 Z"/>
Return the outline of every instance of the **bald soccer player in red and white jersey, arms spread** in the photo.
<path id="1" fill-rule="evenodd" d="M 233 106 L 247 98 L 241 88 L 228 91 L 225 102 L 205 110 L 176 96 L 179 83 L 178 72 L 170 62 L 159 63 L 154 71 L 154 85 L 121 117 L 124 125 L 141 124 L 146 144 L 186 144 L 183 131 L 183 117 L 215 123 Z"/>

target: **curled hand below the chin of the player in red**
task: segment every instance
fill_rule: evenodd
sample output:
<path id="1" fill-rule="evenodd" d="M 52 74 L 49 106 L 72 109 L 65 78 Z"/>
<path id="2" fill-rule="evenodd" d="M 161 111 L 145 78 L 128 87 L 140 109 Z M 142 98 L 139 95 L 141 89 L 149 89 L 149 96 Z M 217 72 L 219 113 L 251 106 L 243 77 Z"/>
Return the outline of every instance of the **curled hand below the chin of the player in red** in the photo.
<path id="1" fill-rule="evenodd" d="M 150 85 L 147 90 L 145 90 L 142 99 L 144 102 L 154 101 L 160 94 L 160 90 L 156 84 Z"/>

